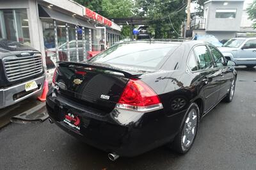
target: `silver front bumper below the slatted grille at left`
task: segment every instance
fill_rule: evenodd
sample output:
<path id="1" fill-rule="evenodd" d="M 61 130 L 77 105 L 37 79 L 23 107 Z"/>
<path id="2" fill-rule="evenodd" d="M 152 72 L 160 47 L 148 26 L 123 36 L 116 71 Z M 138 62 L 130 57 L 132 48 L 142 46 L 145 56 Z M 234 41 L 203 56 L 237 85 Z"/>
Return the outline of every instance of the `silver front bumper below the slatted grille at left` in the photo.
<path id="1" fill-rule="evenodd" d="M 38 85 L 38 89 L 35 89 L 33 91 L 28 91 L 28 93 L 26 93 L 25 84 L 31 81 L 36 82 L 36 84 Z M 40 93 L 44 86 L 44 81 L 45 81 L 45 75 L 42 75 L 36 79 L 31 79 L 29 81 L 22 82 L 20 84 L 15 84 L 8 88 L 1 88 L 0 89 L 0 109 L 7 107 L 9 105 L 13 105 L 17 102 L 20 102 L 21 100 L 31 97 L 32 95 L 35 95 L 36 93 Z M 20 97 L 18 97 L 18 95 Z M 17 98 L 15 96 L 17 96 Z"/>

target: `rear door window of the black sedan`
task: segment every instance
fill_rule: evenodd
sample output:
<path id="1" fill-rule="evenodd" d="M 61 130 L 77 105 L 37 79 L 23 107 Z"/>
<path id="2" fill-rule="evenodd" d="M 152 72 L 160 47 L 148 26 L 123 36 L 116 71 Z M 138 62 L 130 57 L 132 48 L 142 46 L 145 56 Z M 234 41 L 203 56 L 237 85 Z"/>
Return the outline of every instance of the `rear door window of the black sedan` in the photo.
<path id="1" fill-rule="evenodd" d="M 195 47 L 194 51 L 201 70 L 205 68 L 212 68 L 214 66 L 211 54 L 205 45 Z"/>

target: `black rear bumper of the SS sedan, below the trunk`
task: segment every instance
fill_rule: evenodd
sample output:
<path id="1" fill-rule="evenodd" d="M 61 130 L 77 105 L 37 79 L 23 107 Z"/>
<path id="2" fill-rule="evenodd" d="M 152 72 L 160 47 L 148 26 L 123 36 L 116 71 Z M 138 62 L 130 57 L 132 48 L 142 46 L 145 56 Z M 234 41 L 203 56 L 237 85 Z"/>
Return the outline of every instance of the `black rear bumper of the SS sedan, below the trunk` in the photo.
<path id="1" fill-rule="evenodd" d="M 173 140 L 179 132 L 185 111 L 166 116 L 163 109 L 135 114 L 116 110 L 106 115 L 95 114 L 91 109 L 79 108 L 70 101 L 47 96 L 47 111 L 56 125 L 84 143 L 108 153 L 133 157 Z M 80 130 L 63 122 L 63 111 L 75 113 L 81 119 Z"/>

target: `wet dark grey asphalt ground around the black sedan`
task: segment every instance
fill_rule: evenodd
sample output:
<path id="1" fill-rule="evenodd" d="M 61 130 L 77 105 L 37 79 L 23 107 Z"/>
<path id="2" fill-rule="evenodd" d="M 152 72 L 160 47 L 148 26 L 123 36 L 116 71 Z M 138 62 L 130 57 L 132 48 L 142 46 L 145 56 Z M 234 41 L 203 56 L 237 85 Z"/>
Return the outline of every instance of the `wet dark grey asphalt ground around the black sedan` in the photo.
<path id="1" fill-rule="evenodd" d="M 256 70 L 237 70 L 234 100 L 220 103 L 200 121 L 193 148 L 186 155 L 177 155 L 163 146 L 111 162 L 104 151 L 81 143 L 49 121 L 10 123 L 0 129 L 0 169 L 255 170 Z"/>

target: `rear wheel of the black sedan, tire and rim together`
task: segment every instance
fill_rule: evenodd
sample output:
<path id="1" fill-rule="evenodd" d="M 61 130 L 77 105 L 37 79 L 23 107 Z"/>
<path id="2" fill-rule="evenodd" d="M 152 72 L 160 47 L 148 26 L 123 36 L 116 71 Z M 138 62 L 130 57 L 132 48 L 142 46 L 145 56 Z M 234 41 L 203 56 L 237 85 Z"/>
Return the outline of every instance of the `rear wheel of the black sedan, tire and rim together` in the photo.
<path id="1" fill-rule="evenodd" d="M 193 145 L 199 125 L 200 110 L 192 103 L 186 112 L 186 117 L 179 134 L 176 135 L 170 148 L 177 153 L 187 153 Z"/>

